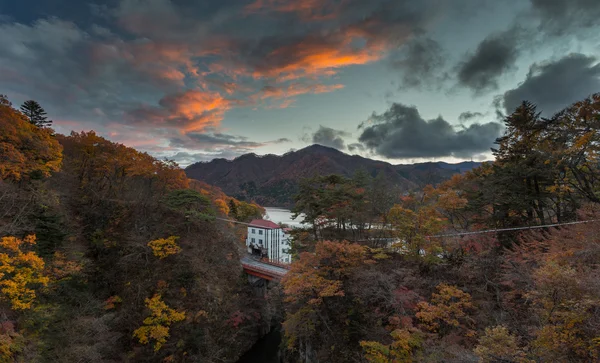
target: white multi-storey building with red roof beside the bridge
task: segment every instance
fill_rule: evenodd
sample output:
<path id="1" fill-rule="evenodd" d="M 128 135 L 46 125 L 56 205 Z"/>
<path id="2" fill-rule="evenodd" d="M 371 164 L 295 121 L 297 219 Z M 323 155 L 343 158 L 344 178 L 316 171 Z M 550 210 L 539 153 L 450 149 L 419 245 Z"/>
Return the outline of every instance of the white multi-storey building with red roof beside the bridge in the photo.
<path id="1" fill-rule="evenodd" d="M 248 253 L 265 257 L 272 262 L 292 262 L 290 237 L 286 230 L 265 219 L 255 219 L 250 222 L 246 247 Z"/>

